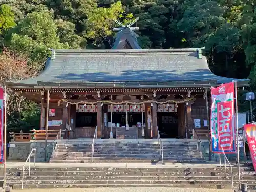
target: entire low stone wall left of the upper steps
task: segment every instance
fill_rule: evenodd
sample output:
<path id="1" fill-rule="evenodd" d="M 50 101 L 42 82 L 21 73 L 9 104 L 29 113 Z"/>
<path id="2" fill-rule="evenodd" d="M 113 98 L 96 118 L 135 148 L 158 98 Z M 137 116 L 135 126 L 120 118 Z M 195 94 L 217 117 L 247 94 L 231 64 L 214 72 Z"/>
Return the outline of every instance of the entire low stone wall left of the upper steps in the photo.
<path id="1" fill-rule="evenodd" d="M 53 142 L 47 142 L 45 152 L 45 141 L 30 141 L 30 142 L 10 142 L 9 161 L 26 160 L 32 148 L 36 149 L 36 162 L 44 162 L 45 154 L 47 153 L 46 161 L 50 160 L 53 153 Z M 56 144 L 56 142 L 55 142 Z M 33 158 L 31 160 L 34 160 Z"/>

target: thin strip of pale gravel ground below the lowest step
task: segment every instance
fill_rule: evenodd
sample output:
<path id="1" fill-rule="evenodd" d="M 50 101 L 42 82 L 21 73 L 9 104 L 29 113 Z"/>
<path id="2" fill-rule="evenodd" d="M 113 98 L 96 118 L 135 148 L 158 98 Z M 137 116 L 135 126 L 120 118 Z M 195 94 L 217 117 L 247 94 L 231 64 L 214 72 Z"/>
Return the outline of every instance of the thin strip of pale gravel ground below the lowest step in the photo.
<path id="1" fill-rule="evenodd" d="M 195 189 L 195 188 L 70 188 L 70 189 L 23 189 L 12 190 L 13 192 L 28 191 L 28 192 L 231 192 L 232 190 L 220 189 Z"/>

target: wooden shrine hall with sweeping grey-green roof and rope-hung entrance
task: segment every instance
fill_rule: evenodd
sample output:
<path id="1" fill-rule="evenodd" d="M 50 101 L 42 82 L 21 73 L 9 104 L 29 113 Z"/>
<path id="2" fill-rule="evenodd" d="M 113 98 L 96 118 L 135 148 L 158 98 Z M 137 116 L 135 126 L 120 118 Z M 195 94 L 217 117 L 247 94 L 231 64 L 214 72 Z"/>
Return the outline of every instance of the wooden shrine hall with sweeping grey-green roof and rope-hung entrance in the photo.
<path id="1" fill-rule="evenodd" d="M 112 49 L 54 50 L 35 78 L 7 87 L 41 106 L 38 130 L 70 139 L 189 138 L 209 133 L 210 87 L 248 79 L 215 75 L 204 48 L 141 49 L 136 28 L 117 30 Z"/>

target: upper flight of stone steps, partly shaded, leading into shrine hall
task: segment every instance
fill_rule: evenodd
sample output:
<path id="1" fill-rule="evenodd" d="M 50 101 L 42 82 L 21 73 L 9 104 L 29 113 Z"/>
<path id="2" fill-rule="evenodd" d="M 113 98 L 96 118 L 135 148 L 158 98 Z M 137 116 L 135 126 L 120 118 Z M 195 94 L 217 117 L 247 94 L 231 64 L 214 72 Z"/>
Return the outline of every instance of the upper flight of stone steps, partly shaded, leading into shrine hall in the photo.
<path id="1" fill-rule="evenodd" d="M 58 142 L 49 163 L 89 163 L 92 142 Z M 204 162 L 194 140 L 163 141 L 164 162 Z M 103 162 L 158 162 L 161 152 L 157 140 L 96 141 L 94 163 Z"/>

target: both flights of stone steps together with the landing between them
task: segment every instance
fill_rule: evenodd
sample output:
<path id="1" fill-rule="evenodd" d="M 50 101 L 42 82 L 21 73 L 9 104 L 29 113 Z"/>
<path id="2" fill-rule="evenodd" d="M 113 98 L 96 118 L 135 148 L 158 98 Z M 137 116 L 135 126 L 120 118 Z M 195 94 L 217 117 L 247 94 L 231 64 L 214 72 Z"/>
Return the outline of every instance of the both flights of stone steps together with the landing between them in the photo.
<path id="1" fill-rule="evenodd" d="M 24 188 L 187 187 L 231 189 L 231 169 L 204 162 L 194 140 L 163 140 L 164 164 L 157 140 L 60 141 L 50 164 L 25 167 Z M 81 163 L 82 162 L 82 163 Z M 89 163 L 88 163 L 89 162 Z M 159 163 L 158 163 L 159 162 Z M 169 163 L 181 162 L 181 163 Z M 69 164 L 66 164 L 69 163 Z M 0 168 L 3 180 L 3 168 Z M 233 166 L 238 189 L 238 168 Z M 242 183 L 256 190 L 253 167 L 241 166 Z M 22 188 L 22 168 L 7 168 L 7 185 Z"/>

